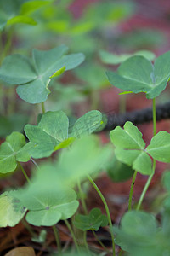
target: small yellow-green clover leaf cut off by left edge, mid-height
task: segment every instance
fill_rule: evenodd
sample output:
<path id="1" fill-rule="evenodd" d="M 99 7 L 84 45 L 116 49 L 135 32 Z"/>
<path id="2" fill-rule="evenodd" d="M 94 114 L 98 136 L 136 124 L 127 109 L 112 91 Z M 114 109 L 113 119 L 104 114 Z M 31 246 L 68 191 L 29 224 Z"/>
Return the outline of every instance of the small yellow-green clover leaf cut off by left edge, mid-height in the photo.
<path id="1" fill-rule="evenodd" d="M 31 155 L 26 149 L 26 138 L 20 132 L 14 131 L 0 146 L 0 172 L 13 172 L 17 161 L 27 162 L 30 158 Z"/>

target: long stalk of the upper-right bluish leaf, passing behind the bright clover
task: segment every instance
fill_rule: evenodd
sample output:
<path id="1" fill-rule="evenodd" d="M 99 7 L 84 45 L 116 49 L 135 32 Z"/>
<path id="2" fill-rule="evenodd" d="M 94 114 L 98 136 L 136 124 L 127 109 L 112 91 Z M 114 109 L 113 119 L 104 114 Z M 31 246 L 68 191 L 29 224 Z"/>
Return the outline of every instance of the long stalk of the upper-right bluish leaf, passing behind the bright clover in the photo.
<path id="1" fill-rule="evenodd" d="M 156 135 L 156 98 L 154 98 L 152 101 L 152 112 L 153 112 L 153 136 L 155 136 Z M 142 191 L 142 194 L 140 195 L 139 203 L 138 203 L 138 206 L 136 207 L 136 210 L 139 210 L 139 208 L 141 207 L 142 201 L 144 200 L 144 195 L 146 194 L 146 191 L 150 186 L 150 182 L 152 180 L 152 177 L 154 176 L 155 170 L 156 170 L 156 160 L 153 160 L 152 174 L 150 175 L 147 182 L 145 183 L 145 186 Z"/>

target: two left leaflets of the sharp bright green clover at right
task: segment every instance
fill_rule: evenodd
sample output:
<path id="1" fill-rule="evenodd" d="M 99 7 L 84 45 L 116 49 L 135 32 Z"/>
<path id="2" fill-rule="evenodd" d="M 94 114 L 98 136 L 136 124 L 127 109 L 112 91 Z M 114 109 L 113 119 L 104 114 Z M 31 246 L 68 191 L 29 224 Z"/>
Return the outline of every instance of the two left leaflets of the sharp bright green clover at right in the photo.
<path id="1" fill-rule="evenodd" d="M 134 170 L 150 175 L 152 163 L 150 156 L 145 152 L 145 143 L 142 133 L 131 122 L 124 125 L 124 130 L 117 126 L 110 133 L 111 142 L 116 146 L 116 158 Z"/>

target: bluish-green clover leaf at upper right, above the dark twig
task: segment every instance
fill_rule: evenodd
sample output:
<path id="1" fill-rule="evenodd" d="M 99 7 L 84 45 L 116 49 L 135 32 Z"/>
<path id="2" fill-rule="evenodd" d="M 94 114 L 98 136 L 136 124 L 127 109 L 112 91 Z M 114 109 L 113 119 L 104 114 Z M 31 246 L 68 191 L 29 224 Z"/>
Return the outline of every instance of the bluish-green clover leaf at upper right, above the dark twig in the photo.
<path id="1" fill-rule="evenodd" d="M 118 73 L 106 72 L 106 75 L 114 86 L 134 93 L 145 92 L 147 98 L 153 99 L 167 86 L 169 66 L 170 51 L 159 56 L 154 66 L 143 56 L 133 56 L 122 62 Z"/>

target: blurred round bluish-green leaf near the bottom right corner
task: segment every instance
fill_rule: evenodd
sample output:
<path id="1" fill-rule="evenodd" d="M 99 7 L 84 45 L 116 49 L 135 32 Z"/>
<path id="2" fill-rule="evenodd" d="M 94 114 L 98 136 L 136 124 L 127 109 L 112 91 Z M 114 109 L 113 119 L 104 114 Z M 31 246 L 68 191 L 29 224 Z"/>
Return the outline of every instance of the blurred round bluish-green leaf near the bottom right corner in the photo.
<path id="1" fill-rule="evenodd" d="M 120 228 L 113 227 L 113 230 L 116 233 L 116 244 L 128 253 L 136 252 L 137 249 L 140 251 L 141 248 L 149 250 L 149 245 L 155 247 L 150 239 L 156 240 L 156 218 L 148 212 L 129 211 L 125 213 Z"/>

